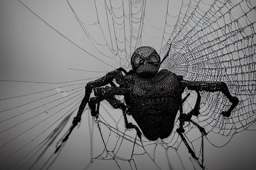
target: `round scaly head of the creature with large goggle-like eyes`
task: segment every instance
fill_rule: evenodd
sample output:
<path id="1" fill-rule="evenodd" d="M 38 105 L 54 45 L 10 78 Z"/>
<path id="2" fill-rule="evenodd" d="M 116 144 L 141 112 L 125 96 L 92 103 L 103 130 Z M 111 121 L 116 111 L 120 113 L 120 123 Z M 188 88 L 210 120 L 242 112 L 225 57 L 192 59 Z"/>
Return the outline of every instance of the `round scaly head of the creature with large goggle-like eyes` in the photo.
<path id="1" fill-rule="evenodd" d="M 149 46 L 137 48 L 132 57 L 133 71 L 142 78 L 151 78 L 157 74 L 160 67 L 160 56 Z"/>

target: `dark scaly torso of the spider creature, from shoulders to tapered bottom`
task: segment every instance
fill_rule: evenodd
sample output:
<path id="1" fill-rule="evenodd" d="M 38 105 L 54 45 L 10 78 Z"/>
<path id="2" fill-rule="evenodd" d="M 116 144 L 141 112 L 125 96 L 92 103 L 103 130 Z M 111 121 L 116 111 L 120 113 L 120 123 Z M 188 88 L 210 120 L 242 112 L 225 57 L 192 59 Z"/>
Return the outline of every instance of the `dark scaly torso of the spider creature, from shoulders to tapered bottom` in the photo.
<path id="1" fill-rule="evenodd" d="M 126 100 L 126 104 L 132 117 L 149 140 L 168 137 L 183 91 L 177 76 L 163 69 L 150 79 L 143 79 L 136 74 L 129 77 L 133 83 L 128 85 L 130 100 Z"/>

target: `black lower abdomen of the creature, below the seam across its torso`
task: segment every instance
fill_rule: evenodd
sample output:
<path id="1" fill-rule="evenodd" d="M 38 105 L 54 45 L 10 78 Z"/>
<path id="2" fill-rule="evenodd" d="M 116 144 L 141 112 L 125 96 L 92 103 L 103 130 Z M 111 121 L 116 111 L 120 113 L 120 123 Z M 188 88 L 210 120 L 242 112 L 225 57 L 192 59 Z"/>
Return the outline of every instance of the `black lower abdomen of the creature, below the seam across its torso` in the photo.
<path id="1" fill-rule="evenodd" d="M 178 110 L 179 102 L 171 96 L 132 100 L 130 105 L 132 117 L 149 140 L 171 134 Z"/>

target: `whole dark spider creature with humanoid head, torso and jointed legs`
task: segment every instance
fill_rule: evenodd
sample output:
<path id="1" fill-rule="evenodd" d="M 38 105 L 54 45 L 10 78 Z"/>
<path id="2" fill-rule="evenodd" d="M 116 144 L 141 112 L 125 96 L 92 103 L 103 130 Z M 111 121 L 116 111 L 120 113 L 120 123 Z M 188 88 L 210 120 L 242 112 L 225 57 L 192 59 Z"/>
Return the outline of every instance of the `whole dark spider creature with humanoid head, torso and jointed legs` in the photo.
<path id="1" fill-rule="evenodd" d="M 139 47 L 131 57 L 132 70 L 127 72 L 120 67 L 107 73 L 102 78 L 87 83 L 85 96 L 81 102 L 77 116 L 73 120 L 73 126 L 62 140 L 62 143 L 68 139 L 73 128 L 80 122 L 81 115 L 87 103 L 91 110 L 91 115 L 98 118 L 100 102 L 106 100 L 114 109 L 121 109 L 123 111 L 125 127 L 127 129 L 136 129 L 140 140 L 141 132 L 139 128 L 132 123 L 128 123 L 126 114 L 132 115 L 144 136 L 148 140 L 153 141 L 158 138 L 167 138 L 171 134 L 174 128 L 175 117 L 178 110 L 180 110 L 180 116 L 178 118 L 180 120 L 180 126 L 176 131 L 181 136 L 189 153 L 198 160 L 182 133 L 185 131 L 183 128 L 185 122 L 191 122 L 199 128 L 203 135 L 207 135 L 204 128 L 191 120 L 192 115 L 198 116 L 200 114 L 201 97 L 199 91 L 221 91 L 232 103 L 227 111 L 221 113 L 225 117 L 231 115 L 231 111 L 239 101 L 237 97 L 231 96 L 224 82 L 187 81 L 183 80 L 182 76 L 178 76 L 167 69 L 162 69 L 158 72 L 161 63 L 169 55 L 170 47 L 161 62 L 160 56 L 154 48 L 148 46 Z M 113 83 L 114 79 L 119 84 L 119 87 Z M 111 86 L 106 86 L 108 84 Z M 197 92 L 195 107 L 188 114 L 182 113 L 182 104 L 190 95 L 188 94 L 182 99 L 181 95 L 186 87 L 189 90 L 195 90 Z M 90 98 L 92 90 L 94 90 L 96 97 Z M 123 95 L 126 105 L 116 99 L 115 95 Z M 55 153 L 60 146 L 56 149 Z M 200 166 L 202 167 L 202 165 Z M 204 169 L 204 167 L 202 168 Z"/>

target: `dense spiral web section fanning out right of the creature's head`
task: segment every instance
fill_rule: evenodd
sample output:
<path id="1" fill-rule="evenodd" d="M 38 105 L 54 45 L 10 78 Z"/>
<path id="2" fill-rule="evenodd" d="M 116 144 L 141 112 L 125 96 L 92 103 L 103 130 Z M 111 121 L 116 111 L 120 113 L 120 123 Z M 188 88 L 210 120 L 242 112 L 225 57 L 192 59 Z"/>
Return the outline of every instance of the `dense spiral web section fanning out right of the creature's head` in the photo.
<path id="1" fill-rule="evenodd" d="M 180 14 L 169 39 L 172 57 L 164 67 L 193 81 L 223 81 L 240 101 L 232 115 L 224 118 L 219 113 L 230 106 L 229 101 L 220 93 L 200 92 L 201 115 L 195 120 L 225 136 L 248 128 L 256 118 L 255 6 L 251 1 L 190 2 Z M 162 53 L 166 50 L 168 44 Z"/>

